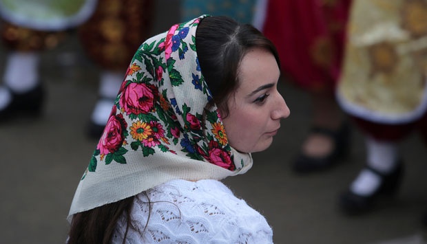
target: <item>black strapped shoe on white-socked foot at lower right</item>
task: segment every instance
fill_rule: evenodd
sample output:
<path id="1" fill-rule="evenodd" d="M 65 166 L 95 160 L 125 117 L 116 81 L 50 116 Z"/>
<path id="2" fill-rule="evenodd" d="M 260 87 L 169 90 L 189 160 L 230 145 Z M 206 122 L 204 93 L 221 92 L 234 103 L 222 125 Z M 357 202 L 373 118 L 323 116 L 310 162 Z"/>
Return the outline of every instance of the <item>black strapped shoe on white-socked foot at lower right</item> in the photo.
<path id="1" fill-rule="evenodd" d="M 370 170 L 372 173 L 375 173 L 375 175 L 381 177 L 381 184 L 377 190 L 375 190 L 375 192 L 369 196 L 357 195 L 350 189 L 343 192 L 340 195 L 339 204 L 341 210 L 346 214 L 363 214 L 373 209 L 375 206 L 375 201 L 377 201 L 379 197 L 391 197 L 395 195 L 404 174 L 402 161 L 399 161 L 395 170 L 393 170 L 393 172 L 389 173 L 388 175 L 379 173 L 377 170 L 374 170 L 368 166 L 366 166 L 365 169 Z"/>

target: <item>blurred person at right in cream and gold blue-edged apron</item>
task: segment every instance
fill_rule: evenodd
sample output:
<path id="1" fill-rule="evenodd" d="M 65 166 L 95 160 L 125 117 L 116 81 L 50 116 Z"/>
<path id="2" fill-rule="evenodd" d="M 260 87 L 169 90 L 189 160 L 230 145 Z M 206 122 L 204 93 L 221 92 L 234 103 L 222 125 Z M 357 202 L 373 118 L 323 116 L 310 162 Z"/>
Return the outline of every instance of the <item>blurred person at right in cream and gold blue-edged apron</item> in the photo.
<path id="1" fill-rule="evenodd" d="M 344 212 L 367 212 L 397 191 L 398 145 L 411 131 L 427 142 L 426 71 L 426 0 L 354 1 L 337 100 L 365 134 L 366 163 L 340 195 Z"/>

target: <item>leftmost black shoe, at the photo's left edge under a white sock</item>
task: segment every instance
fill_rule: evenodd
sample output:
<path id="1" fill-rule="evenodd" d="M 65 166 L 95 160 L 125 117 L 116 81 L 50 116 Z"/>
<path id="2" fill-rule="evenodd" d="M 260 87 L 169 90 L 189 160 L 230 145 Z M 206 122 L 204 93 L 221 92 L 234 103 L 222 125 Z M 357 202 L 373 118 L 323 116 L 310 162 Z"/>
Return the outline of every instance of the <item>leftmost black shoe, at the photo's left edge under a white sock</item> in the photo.
<path id="1" fill-rule="evenodd" d="M 33 117 L 41 114 L 44 99 L 44 90 L 41 84 L 25 93 L 15 93 L 10 89 L 8 90 L 12 98 L 8 106 L 0 110 L 0 121 L 8 120 L 16 115 Z"/>

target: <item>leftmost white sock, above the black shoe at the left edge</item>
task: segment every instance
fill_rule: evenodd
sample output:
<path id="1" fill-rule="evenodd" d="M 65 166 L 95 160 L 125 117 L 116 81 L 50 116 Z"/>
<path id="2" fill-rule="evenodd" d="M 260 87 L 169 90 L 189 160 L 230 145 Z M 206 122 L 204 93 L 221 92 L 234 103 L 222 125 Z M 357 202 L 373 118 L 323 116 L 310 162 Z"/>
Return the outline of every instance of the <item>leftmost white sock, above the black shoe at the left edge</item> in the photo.
<path id="1" fill-rule="evenodd" d="M 39 84 L 39 54 L 11 52 L 6 60 L 5 85 L 16 93 L 30 91 Z"/>

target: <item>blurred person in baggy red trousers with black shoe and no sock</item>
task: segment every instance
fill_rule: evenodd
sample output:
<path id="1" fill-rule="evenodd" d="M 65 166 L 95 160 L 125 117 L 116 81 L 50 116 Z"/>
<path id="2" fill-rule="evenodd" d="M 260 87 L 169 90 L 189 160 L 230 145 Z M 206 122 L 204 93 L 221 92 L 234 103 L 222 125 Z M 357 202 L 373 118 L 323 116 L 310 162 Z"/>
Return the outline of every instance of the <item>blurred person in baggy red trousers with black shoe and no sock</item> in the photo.
<path id="1" fill-rule="evenodd" d="M 346 153 L 350 128 L 335 101 L 350 0 L 259 0 L 254 25 L 278 48 L 287 80 L 311 97 L 311 129 L 292 162 L 298 173 L 330 168 Z"/>

